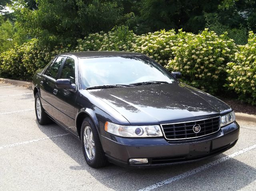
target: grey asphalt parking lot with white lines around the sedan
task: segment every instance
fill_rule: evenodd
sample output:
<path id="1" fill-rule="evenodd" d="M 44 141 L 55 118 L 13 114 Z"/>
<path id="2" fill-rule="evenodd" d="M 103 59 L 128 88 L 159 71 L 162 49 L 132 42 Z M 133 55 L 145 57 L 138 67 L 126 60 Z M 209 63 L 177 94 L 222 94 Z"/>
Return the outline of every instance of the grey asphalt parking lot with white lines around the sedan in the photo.
<path id="1" fill-rule="evenodd" d="M 256 190 L 256 124 L 238 121 L 233 148 L 153 169 L 89 167 L 79 140 L 36 121 L 31 89 L 0 83 L 0 190 Z"/>

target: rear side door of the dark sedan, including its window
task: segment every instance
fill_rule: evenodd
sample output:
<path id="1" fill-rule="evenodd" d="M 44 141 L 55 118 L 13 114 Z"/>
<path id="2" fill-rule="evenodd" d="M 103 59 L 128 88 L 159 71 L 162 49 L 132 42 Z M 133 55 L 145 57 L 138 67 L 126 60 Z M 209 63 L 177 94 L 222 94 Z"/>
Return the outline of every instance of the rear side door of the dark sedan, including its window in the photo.
<path id="1" fill-rule="evenodd" d="M 55 87 L 56 77 L 58 74 L 58 70 L 64 61 L 64 56 L 59 56 L 52 63 L 49 65 L 49 67 L 44 71 L 44 74 L 42 75 L 42 79 L 40 81 L 40 97 L 41 102 L 44 110 L 50 116 L 54 117 L 54 113 L 52 110 L 52 96 L 53 91 Z"/>

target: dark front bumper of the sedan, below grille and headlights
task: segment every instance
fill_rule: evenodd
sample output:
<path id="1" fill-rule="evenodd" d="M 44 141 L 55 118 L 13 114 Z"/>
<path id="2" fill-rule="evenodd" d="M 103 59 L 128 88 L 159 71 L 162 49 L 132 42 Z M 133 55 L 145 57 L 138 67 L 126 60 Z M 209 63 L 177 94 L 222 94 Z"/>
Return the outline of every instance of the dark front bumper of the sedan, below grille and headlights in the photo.
<path id="1" fill-rule="evenodd" d="M 149 167 L 198 161 L 220 154 L 236 144 L 239 125 L 236 122 L 218 132 L 191 140 L 165 138 L 121 138 L 100 136 L 108 160 L 126 167 Z M 148 158 L 147 164 L 129 164 L 130 158 Z"/>

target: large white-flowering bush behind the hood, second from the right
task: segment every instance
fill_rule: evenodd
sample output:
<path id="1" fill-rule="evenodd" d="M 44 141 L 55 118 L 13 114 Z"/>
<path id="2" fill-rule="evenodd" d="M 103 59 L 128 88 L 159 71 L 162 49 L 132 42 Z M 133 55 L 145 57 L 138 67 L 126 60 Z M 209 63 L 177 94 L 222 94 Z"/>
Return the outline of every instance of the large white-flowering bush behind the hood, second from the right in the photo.
<path id="1" fill-rule="evenodd" d="M 208 93 L 224 91 L 226 64 L 237 51 L 234 40 L 208 29 L 197 35 L 180 30 L 177 40 L 166 68 L 182 72 L 182 81 Z"/>

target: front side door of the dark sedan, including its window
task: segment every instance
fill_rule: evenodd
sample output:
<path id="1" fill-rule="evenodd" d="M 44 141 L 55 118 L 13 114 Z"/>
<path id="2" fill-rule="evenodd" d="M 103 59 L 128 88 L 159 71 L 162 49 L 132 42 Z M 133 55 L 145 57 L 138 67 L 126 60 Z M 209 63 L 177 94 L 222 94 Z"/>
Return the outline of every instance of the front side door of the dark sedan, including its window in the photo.
<path id="1" fill-rule="evenodd" d="M 75 60 L 67 57 L 60 68 L 58 79 L 70 79 L 72 84 L 76 84 Z M 77 88 L 61 89 L 54 86 L 54 96 L 52 106 L 54 118 L 66 126 L 69 130 L 77 134 L 75 127 L 74 105 L 76 102 Z"/>

